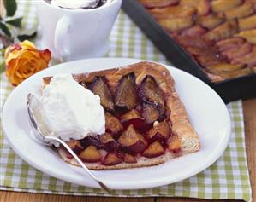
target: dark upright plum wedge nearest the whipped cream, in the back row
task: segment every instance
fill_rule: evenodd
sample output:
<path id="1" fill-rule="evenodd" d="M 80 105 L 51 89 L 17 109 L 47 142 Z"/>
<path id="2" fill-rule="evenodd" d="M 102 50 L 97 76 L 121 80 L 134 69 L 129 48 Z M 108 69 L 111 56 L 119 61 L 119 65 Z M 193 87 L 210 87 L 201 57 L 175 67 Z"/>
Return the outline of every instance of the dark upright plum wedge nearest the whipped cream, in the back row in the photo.
<path id="1" fill-rule="evenodd" d="M 105 83 L 105 78 L 95 77 L 90 84 L 89 89 L 95 95 L 100 97 L 100 104 L 106 109 L 113 111 L 114 110 L 114 101 L 110 92 L 108 85 Z"/>

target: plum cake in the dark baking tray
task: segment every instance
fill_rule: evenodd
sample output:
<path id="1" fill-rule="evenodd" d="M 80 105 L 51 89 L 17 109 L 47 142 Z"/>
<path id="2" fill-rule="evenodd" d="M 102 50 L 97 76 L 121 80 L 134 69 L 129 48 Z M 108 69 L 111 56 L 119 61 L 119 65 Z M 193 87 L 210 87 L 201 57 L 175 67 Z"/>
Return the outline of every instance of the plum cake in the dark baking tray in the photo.
<path id="1" fill-rule="evenodd" d="M 256 0 L 139 0 L 212 81 L 256 72 Z"/>

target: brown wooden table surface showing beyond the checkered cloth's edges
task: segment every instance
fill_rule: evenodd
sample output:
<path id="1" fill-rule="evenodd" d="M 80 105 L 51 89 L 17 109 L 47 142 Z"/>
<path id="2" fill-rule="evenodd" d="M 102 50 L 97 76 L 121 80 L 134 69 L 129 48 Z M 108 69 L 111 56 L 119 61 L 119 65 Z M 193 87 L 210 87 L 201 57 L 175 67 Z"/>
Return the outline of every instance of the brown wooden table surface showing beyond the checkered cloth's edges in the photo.
<path id="1" fill-rule="evenodd" d="M 256 99 L 243 101 L 245 130 L 247 139 L 247 162 L 249 165 L 250 179 L 253 187 L 253 199 L 256 200 Z M 82 201 L 104 201 L 104 202 L 196 202 L 209 201 L 200 199 L 184 198 L 108 198 L 108 197 L 83 197 L 64 196 L 39 193 L 18 193 L 0 191 L 0 202 L 82 202 Z M 216 200 L 228 201 L 228 200 Z M 229 200 L 233 201 L 233 200 Z M 234 200 L 233 202 L 237 202 Z"/>

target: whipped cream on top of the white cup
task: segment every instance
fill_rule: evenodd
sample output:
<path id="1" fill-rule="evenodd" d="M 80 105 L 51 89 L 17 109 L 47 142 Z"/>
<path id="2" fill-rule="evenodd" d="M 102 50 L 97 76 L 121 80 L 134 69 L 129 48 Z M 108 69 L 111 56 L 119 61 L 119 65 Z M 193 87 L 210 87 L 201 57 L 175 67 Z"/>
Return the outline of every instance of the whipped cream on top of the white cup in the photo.
<path id="1" fill-rule="evenodd" d="M 94 5 L 98 5 L 98 2 L 99 0 L 51 0 L 52 5 L 65 9 L 94 8 Z"/>

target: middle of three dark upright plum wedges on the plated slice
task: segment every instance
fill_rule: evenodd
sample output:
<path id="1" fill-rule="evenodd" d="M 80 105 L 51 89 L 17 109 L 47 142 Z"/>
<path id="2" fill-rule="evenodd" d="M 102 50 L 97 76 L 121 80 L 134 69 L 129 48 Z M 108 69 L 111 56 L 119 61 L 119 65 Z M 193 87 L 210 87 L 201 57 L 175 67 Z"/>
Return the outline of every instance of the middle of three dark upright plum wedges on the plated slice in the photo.
<path id="1" fill-rule="evenodd" d="M 128 110 L 137 105 L 137 93 L 134 73 L 122 77 L 116 89 L 115 104 L 117 107 L 126 107 Z"/>

